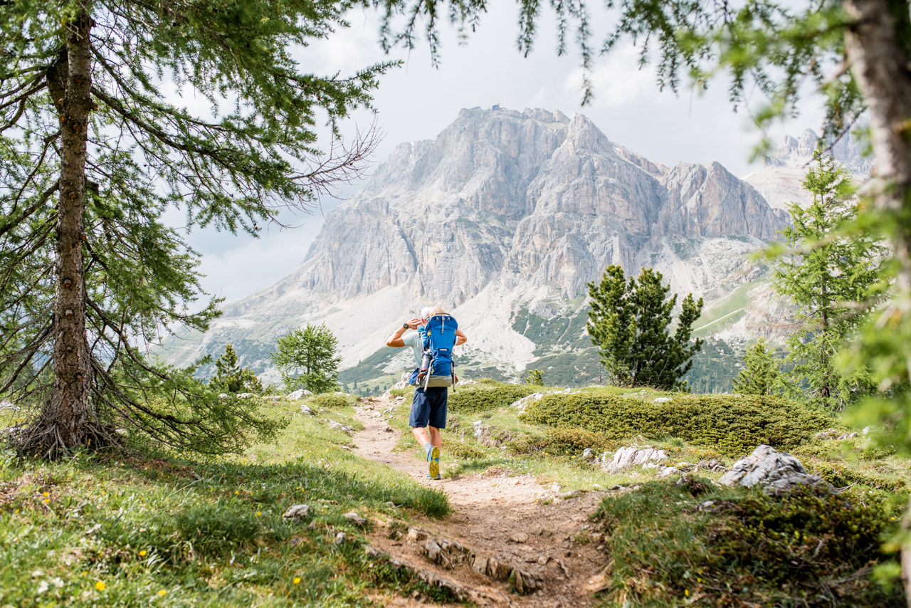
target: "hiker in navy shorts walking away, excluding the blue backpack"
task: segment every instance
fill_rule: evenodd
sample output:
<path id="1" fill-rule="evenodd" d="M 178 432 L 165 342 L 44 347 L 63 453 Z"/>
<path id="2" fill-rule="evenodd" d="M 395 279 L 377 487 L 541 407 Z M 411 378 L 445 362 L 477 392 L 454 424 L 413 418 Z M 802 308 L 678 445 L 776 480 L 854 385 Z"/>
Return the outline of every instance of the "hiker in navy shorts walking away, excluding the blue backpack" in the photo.
<path id="1" fill-rule="evenodd" d="M 401 327 L 396 329 L 393 335 L 386 340 L 387 346 L 393 348 L 403 348 L 411 346 L 415 352 L 415 371 L 409 380 L 410 384 L 415 384 L 415 397 L 411 402 L 411 417 L 408 419 L 408 425 L 412 433 L 415 434 L 418 444 L 424 448 L 425 457 L 429 464 L 430 479 L 440 479 L 440 450 L 443 448 L 443 437 L 440 431 L 446 428 L 446 399 L 449 396 L 447 386 L 433 386 L 429 380 L 435 380 L 438 376 L 426 378 L 421 376 L 421 364 L 424 356 L 424 332 L 408 330 L 417 330 L 425 327 L 435 315 L 448 315 L 442 308 L 432 308 L 425 306 L 421 309 L 420 316 L 407 321 Z M 452 317 L 448 317 L 452 318 Z M 453 320 L 455 321 L 455 320 Z M 403 336 L 404 335 L 404 336 Z M 467 342 L 468 338 L 461 329 L 455 330 L 455 345 L 462 345 Z M 430 374 L 429 371 L 426 372 Z M 455 376 L 455 374 L 453 374 Z M 455 378 L 454 378 L 455 379 Z M 430 386 L 426 386 L 430 385 Z M 444 383 L 445 384 L 445 383 Z"/>

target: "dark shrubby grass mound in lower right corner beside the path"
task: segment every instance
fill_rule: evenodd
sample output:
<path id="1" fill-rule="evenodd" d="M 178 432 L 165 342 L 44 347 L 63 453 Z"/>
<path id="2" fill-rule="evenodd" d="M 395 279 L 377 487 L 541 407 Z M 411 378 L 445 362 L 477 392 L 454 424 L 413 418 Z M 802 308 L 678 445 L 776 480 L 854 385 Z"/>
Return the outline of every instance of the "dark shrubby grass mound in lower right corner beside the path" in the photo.
<path id="1" fill-rule="evenodd" d="M 899 585 L 872 582 L 881 503 L 798 489 L 713 489 L 655 481 L 604 500 L 608 605 L 897 606 Z"/>

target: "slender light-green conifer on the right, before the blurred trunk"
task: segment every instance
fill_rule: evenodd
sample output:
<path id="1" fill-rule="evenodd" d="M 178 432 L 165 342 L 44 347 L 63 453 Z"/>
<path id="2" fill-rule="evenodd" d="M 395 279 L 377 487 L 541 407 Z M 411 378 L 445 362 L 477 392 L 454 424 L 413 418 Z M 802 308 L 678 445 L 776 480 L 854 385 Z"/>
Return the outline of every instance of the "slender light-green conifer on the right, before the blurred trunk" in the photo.
<path id="1" fill-rule="evenodd" d="M 782 234 L 794 254 L 774 273 L 775 289 L 797 306 L 797 331 L 788 339 L 788 386 L 806 389 L 824 407 L 842 409 L 874 388 L 867 370 L 844 376 L 835 358 L 864 321 L 858 311 L 879 279 L 884 252 L 867 236 L 844 233 L 855 221 L 854 187 L 822 143 L 803 183 L 813 202 L 806 209 L 789 206 L 793 226 Z"/>

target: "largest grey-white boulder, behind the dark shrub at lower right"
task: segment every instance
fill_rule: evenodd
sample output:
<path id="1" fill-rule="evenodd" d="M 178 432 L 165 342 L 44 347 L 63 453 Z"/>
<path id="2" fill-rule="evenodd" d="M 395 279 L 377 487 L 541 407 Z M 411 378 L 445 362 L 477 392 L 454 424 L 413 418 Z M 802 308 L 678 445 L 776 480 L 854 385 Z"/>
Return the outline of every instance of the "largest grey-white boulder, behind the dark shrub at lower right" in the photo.
<path id="1" fill-rule="evenodd" d="M 822 478 L 804 469 L 800 460 L 764 444 L 752 450 L 750 456 L 735 462 L 718 482 L 746 488 L 758 484 L 767 494 L 779 494 L 801 485 L 828 486 Z"/>

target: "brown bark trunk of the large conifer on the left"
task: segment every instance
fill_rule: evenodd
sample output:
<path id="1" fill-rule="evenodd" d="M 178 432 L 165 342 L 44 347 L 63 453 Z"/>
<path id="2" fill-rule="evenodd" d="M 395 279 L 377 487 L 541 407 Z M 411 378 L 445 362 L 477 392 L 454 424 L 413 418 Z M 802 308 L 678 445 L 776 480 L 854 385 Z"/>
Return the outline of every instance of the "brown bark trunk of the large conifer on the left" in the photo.
<path id="1" fill-rule="evenodd" d="M 88 395 L 92 369 L 86 335 L 86 282 L 82 258 L 85 239 L 85 177 L 88 113 L 91 111 L 91 18 L 83 5 L 67 24 L 66 53 L 55 62 L 66 77 L 60 110 L 60 204 L 56 222 L 56 301 L 54 306 L 54 392 L 29 437 L 49 456 L 85 445 L 91 413 Z M 66 63 L 64 63 L 66 61 Z M 66 72 L 64 71 L 66 69 Z M 62 83 L 60 83 L 62 84 Z M 56 93 L 57 88 L 51 88 Z"/>

